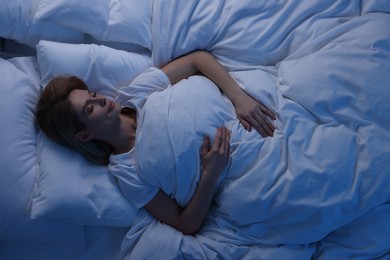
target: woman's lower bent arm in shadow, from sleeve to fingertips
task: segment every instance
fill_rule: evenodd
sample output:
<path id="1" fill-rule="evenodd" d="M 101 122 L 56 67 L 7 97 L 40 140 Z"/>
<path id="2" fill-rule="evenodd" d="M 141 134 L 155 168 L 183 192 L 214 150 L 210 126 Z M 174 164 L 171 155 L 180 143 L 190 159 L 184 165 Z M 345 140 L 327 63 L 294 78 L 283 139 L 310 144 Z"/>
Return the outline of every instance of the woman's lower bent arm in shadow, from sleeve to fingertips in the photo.
<path id="1" fill-rule="evenodd" d="M 226 128 L 218 128 L 211 147 L 210 139 L 205 137 L 201 151 L 202 176 L 194 197 L 185 208 L 180 207 L 162 191 L 159 191 L 145 208 L 154 217 L 184 234 L 196 233 L 210 208 L 217 180 L 229 161 L 229 141 L 230 132 Z"/>

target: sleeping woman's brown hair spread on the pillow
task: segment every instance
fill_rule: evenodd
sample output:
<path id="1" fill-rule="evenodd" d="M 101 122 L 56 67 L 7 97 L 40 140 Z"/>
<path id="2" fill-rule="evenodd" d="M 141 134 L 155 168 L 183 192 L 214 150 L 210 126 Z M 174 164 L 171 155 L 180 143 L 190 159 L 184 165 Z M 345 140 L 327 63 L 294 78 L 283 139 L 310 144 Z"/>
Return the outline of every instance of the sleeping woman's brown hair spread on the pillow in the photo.
<path id="1" fill-rule="evenodd" d="M 42 91 L 37 105 L 36 117 L 39 127 L 53 141 L 74 149 L 95 164 L 107 165 L 112 147 L 100 140 L 82 142 L 75 134 L 85 129 L 68 99 L 75 90 L 88 90 L 77 77 L 52 79 Z"/>

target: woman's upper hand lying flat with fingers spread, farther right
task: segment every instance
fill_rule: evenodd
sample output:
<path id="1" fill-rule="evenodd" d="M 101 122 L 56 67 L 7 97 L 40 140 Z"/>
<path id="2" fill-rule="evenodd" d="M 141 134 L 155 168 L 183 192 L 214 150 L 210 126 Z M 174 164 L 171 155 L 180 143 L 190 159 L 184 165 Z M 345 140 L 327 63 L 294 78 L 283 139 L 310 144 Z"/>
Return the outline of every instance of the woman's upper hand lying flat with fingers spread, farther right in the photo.
<path id="1" fill-rule="evenodd" d="M 270 119 L 275 120 L 276 116 L 261 102 L 242 92 L 241 96 L 235 100 L 234 107 L 238 120 L 246 130 L 251 131 L 253 127 L 263 137 L 273 136 L 275 127 Z"/>

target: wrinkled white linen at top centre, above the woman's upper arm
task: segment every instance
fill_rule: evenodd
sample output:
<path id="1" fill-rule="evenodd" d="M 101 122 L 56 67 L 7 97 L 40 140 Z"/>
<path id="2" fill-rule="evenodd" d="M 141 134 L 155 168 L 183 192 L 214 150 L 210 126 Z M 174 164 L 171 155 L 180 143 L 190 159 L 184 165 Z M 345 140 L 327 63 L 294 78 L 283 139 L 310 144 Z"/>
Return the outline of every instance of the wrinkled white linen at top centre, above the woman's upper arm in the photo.
<path id="1" fill-rule="evenodd" d="M 155 1 L 153 58 L 163 65 L 206 49 L 230 70 L 276 65 L 306 42 L 358 16 L 360 7 L 359 1 L 348 0 Z"/>

